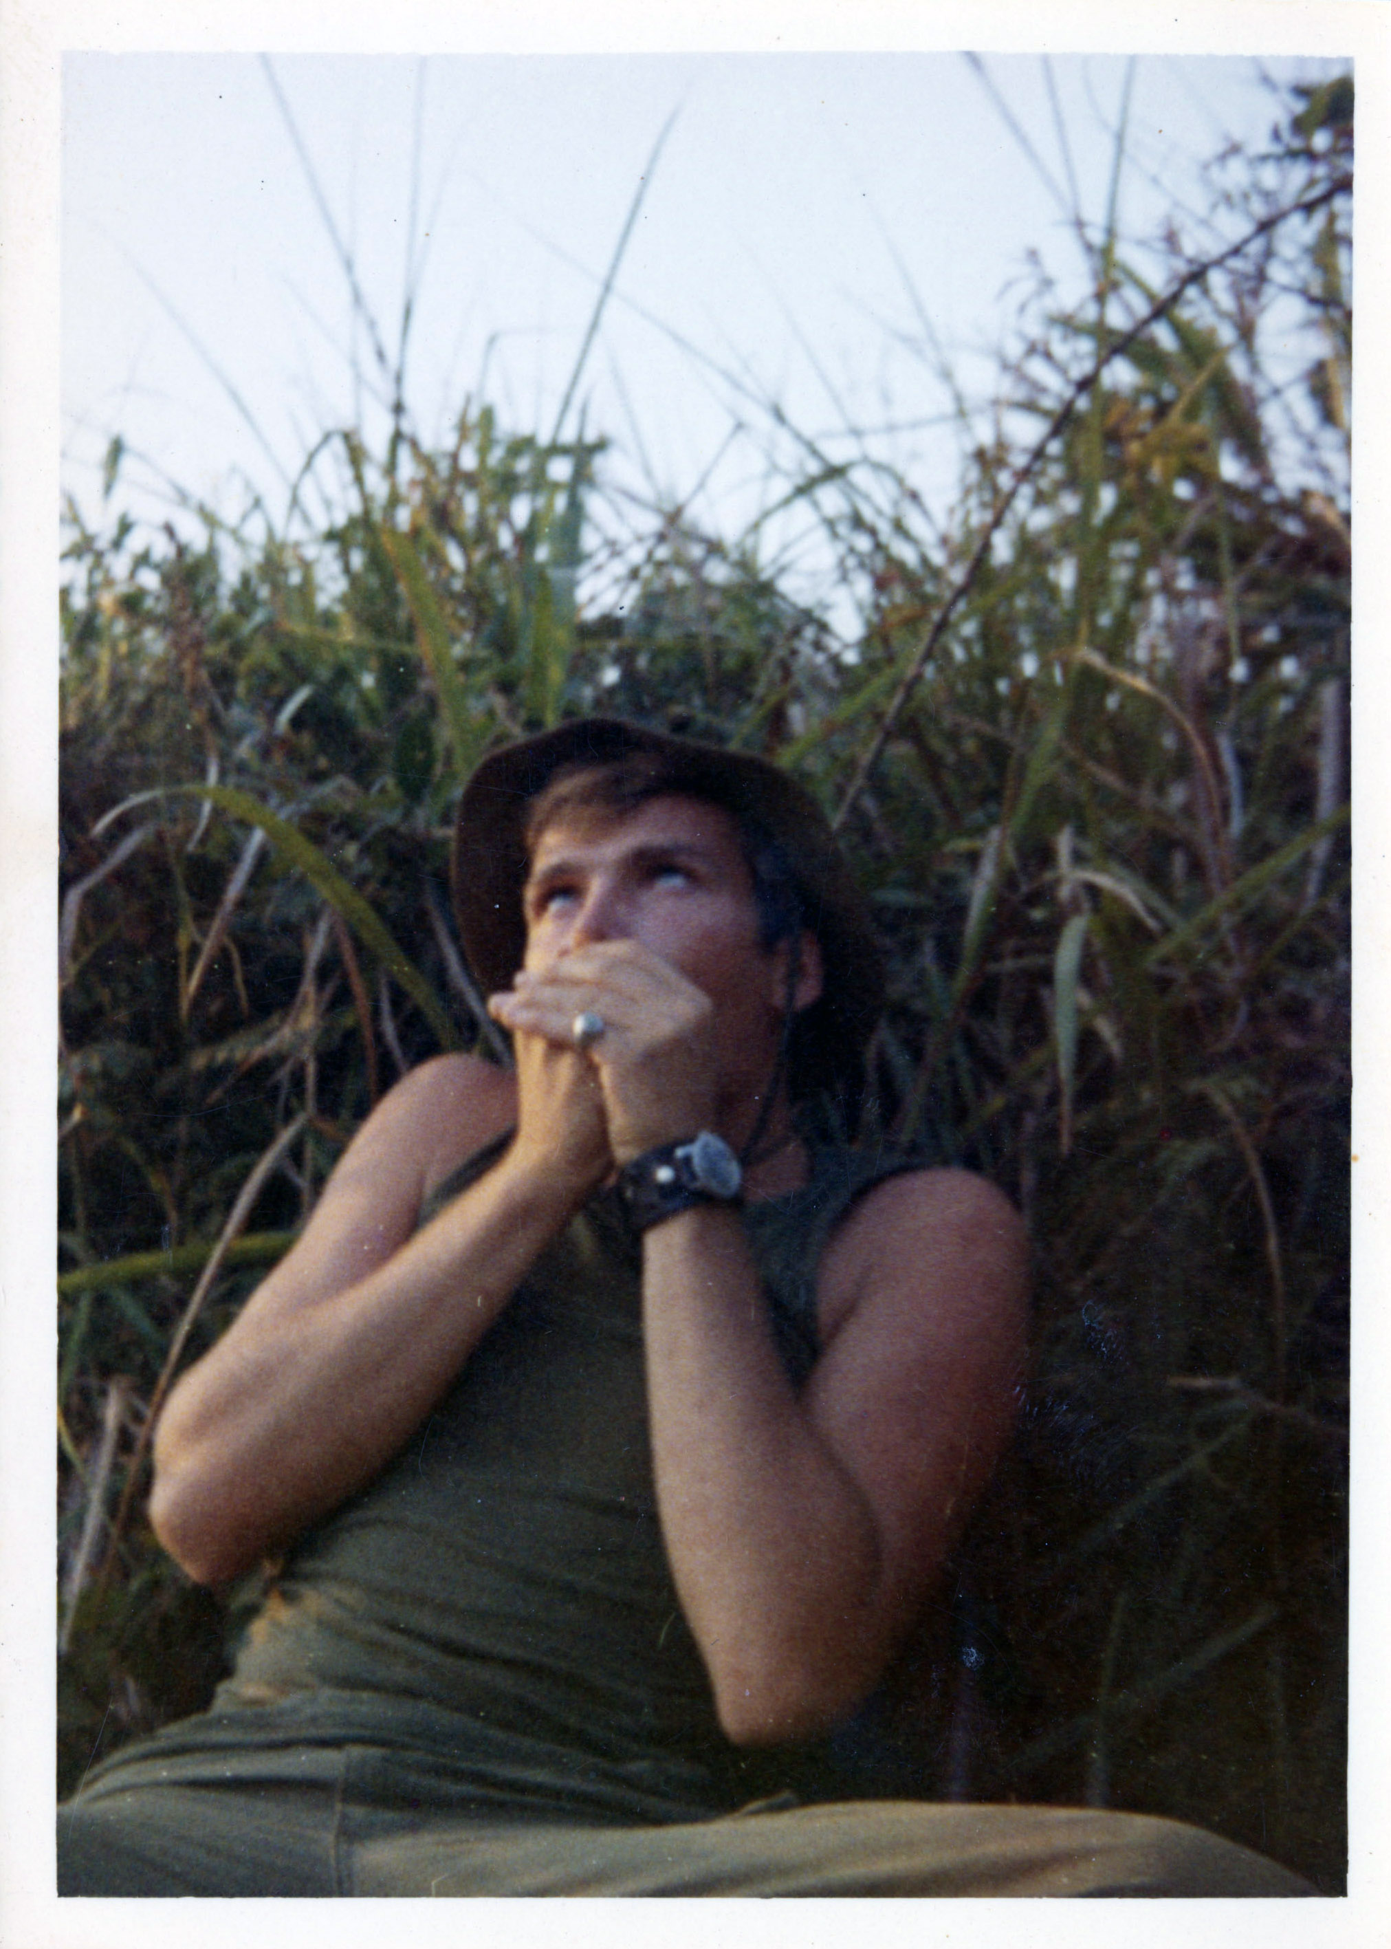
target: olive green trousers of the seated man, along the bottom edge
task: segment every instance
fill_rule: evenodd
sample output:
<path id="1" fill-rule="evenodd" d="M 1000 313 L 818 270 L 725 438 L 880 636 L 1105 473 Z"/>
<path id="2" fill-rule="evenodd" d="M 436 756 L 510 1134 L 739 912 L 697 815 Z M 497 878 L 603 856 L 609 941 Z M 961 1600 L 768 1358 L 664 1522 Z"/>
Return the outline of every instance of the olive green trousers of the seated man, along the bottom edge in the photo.
<path id="1" fill-rule="evenodd" d="M 440 1815 L 347 1797 L 347 1754 L 119 1774 L 58 1809 L 58 1894 L 1313 1894 L 1179 1820 L 849 1801 L 676 1826 Z"/>

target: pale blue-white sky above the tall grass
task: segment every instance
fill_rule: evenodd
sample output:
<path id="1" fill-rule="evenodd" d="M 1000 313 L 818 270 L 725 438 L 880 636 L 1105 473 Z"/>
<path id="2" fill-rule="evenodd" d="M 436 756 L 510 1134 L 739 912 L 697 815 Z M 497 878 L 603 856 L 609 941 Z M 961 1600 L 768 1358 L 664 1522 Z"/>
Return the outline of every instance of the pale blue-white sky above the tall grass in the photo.
<path id="1" fill-rule="evenodd" d="M 62 448 L 88 518 L 179 497 L 284 518 L 320 435 L 429 442 L 466 400 L 565 433 L 606 479 L 738 532 L 781 493 L 775 405 L 846 427 L 945 497 L 972 400 L 1033 288 L 1089 283 L 1114 177 L 1122 238 L 1210 242 L 1202 166 L 1264 144 L 1280 82 L 1251 55 L 144 55 L 62 74 Z M 1124 136 L 1118 144 L 1118 131 Z M 1220 228 L 1220 216 L 1216 216 Z M 353 283 L 360 292 L 355 306 Z M 374 345 L 380 339 L 380 353 Z M 321 476 L 325 478 L 325 476 Z"/>

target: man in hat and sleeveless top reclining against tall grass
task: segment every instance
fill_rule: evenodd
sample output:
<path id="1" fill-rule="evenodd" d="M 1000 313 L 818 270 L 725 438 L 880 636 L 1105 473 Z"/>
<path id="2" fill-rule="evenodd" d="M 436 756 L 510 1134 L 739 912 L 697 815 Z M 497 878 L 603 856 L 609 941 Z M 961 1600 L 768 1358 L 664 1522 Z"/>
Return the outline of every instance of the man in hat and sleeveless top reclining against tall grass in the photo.
<path id="1" fill-rule="evenodd" d="M 773 766 L 565 725 L 477 770 L 454 881 L 516 1068 L 407 1076 L 171 1395 L 164 1544 L 282 1561 L 212 1711 L 60 1811 L 60 1891 L 1307 1892 L 1163 1820 L 768 1805 L 1007 1436 L 1019 1218 L 799 1127 L 881 974 Z"/>

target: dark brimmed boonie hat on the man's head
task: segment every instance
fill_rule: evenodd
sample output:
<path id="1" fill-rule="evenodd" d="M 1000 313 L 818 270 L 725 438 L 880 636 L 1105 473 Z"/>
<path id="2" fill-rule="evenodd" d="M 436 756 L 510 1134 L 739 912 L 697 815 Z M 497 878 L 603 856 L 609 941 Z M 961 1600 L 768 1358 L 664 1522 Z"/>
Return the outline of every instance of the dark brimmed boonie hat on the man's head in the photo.
<path id="1" fill-rule="evenodd" d="M 750 836 L 771 838 L 797 883 L 807 928 L 822 953 L 822 994 L 797 1017 L 793 1095 L 855 1091 L 863 1051 L 883 1008 L 883 959 L 863 893 L 830 822 L 795 778 L 752 752 L 649 731 L 621 717 L 577 717 L 503 745 L 477 766 L 460 799 L 450 887 L 464 951 L 485 994 L 522 965 L 526 809 L 563 768 L 653 754 L 672 770 L 670 791 L 709 799 Z"/>

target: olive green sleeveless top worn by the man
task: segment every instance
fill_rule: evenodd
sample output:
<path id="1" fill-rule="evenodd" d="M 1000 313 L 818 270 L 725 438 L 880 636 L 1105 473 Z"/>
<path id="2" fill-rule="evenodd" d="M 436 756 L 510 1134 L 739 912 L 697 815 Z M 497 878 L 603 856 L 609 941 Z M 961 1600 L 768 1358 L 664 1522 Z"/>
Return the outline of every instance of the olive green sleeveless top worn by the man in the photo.
<path id="1" fill-rule="evenodd" d="M 820 1150 L 803 1189 L 744 1206 L 793 1384 L 816 1358 L 832 1226 L 920 1164 Z M 641 1243 L 612 1193 L 540 1255 L 395 1460 L 300 1540 L 212 1713 L 222 1740 L 360 1744 L 407 1801 L 508 1816 L 682 1820 L 758 1789 L 766 1772 L 719 1731 L 662 1548 Z"/>

